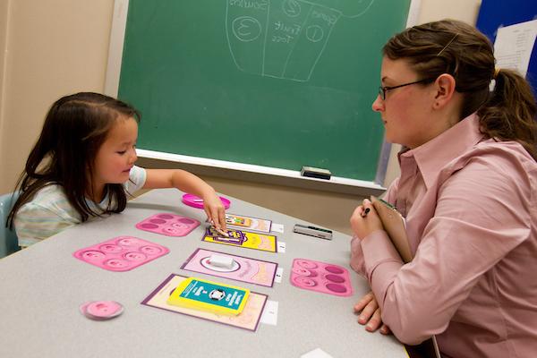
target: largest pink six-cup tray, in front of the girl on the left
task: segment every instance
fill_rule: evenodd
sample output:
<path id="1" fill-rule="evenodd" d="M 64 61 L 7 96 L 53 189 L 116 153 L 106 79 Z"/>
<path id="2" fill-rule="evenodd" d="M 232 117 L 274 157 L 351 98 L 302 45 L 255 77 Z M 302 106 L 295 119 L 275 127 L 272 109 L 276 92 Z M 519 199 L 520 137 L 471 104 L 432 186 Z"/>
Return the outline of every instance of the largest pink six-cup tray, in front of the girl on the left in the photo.
<path id="1" fill-rule="evenodd" d="M 72 255 L 91 265 L 110 271 L 128 271 L 150 260 L 166 255 L 169 250 L 132 236 L 117 236 L 103 243 L 75 251 Z"/>

